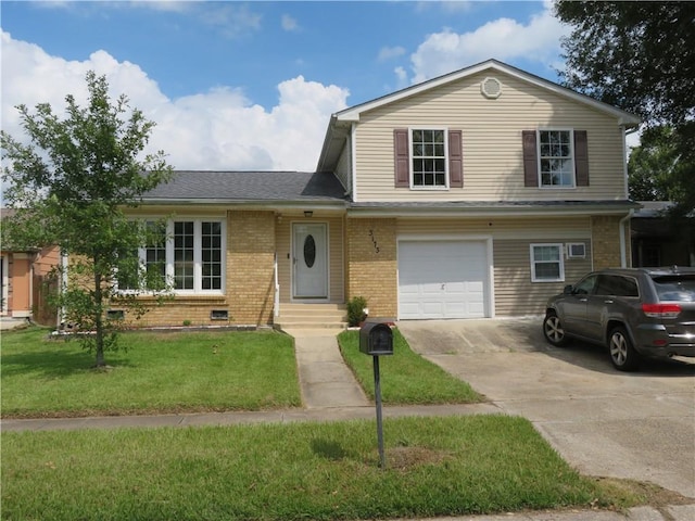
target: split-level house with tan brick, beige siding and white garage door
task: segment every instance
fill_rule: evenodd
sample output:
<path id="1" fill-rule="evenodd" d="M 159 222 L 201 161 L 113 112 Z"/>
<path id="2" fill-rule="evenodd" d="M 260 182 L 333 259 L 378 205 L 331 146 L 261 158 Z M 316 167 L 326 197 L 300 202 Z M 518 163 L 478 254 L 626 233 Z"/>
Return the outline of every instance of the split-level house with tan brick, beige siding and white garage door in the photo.
<path id="1" fill-rule="evenodd" d="M 354 296 L 392 319 L 540 314 L 631 264 L 639 123 L 491 60 L 332 115 L 316 173 L 177 171 L 138 211 L 170 216 L 140 255 L 176 285 L 144 320 L 325 321 Z"/>

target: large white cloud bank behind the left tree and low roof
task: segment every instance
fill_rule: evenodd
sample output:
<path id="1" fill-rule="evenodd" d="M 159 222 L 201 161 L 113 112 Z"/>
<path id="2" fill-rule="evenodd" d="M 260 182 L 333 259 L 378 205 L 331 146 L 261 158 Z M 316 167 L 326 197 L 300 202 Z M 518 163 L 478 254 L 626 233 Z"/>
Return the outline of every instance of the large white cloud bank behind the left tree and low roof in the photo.
<path id="1" fill-rule="evenodd" d="M 349 92 L 302 76 L 278 86 L 276 106 L 252 104 L 240 89 L 218 87 L 168 99 L 138 65 L 97 51 L 84 62 L 47 54 L 2 33 L 2 128 L 26 138 L 14 105 L 50 103 L 64 115 L 64 98 L 86 100 L 85 75 L 105 75 L 112 98 L 125 93 L 130 105 L 155 122 L 146 152 L 164 150 L 178 169 L 313 170 L 330 115 L 346 106 Z"/>

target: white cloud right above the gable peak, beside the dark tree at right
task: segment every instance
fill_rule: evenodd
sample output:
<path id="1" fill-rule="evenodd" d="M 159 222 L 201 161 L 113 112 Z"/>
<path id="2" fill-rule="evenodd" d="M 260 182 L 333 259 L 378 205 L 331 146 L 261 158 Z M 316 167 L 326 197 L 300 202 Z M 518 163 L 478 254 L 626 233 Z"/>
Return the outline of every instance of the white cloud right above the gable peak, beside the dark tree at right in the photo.
<path id="1" fill-rule="evenodd" d="M 528 23 L 497 18 L 476 30 L 458 34 L 451 28 L 429 35 L 410 56 L 417 84 L 494 58 L 501 61 L 533 60 L 549 64 L 557 56 L 560 37 L 567 33 L 553 16 L 551 2 Z"/>

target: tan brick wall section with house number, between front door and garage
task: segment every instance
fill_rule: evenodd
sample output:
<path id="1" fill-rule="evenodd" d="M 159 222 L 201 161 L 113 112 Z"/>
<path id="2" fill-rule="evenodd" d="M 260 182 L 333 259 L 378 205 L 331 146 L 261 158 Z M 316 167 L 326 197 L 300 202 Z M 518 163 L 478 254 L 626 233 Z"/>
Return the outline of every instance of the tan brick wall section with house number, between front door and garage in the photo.
<path id="1" fill-rule="evenodd" d="M 364 296 L 372 317 L 396 317 L 395 219 L 346 219 L 348 300 Z"/>

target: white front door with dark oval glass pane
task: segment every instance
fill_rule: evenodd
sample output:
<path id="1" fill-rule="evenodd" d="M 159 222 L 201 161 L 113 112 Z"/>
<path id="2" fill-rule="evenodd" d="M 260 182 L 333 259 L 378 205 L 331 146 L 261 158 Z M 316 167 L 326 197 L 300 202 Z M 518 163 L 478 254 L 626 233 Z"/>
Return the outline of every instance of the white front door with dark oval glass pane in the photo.
<path id="1" fill-rule="evenodd" d="M 328 298 L 328 241 L 325 223 L 292 226 L 293 297 Z"/>

